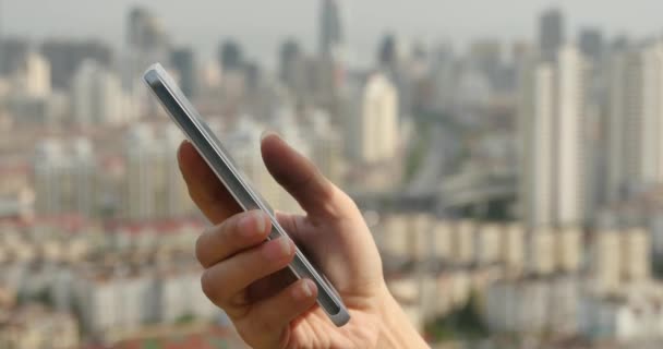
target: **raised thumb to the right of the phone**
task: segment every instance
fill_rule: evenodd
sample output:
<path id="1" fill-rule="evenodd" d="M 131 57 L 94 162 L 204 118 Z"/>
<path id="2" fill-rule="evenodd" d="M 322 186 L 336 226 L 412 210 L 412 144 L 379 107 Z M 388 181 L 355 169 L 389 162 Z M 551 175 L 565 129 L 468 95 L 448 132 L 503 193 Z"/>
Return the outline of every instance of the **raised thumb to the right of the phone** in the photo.
<path id="1" fill-rule="evenodd" d="M 351 200 L 315 165 L 290 147 L 276 133 L 263 135 L 261 151 L 267 170 L 309 214 L 315 217 L 343 216 Z"/>

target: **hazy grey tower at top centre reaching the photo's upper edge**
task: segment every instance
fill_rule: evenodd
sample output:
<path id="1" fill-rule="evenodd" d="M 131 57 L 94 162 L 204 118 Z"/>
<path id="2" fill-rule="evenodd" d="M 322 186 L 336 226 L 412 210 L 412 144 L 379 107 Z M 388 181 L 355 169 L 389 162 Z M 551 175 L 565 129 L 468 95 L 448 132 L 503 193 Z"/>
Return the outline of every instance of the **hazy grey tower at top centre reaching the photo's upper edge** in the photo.
<path id="1" fill-rule="evenodd" d="M 320 14 L 320 55 L 335 57 L 342 45 L 339 0 L 323 0 Z"/>

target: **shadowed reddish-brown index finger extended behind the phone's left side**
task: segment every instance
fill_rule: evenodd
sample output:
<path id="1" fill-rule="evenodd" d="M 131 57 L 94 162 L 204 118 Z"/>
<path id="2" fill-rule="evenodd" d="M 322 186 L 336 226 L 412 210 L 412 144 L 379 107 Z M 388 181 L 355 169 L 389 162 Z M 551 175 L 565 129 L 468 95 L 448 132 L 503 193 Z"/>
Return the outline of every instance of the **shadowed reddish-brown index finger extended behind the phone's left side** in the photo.
<path id="1" fill-rule="evenodd" d="M 242 212 L 224 183 L 189 141 L 183 141 L 178 151 L 178 163 L 189 195 L 212 224 L 218 225 L 228 217 Z"/>

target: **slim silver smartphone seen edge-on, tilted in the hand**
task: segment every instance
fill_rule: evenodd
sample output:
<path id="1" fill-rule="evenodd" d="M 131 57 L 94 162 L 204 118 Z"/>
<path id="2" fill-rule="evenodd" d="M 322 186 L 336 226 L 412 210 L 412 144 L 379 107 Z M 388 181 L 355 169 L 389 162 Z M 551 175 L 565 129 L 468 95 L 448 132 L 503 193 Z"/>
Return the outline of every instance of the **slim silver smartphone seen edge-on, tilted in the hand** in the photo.
<path id="1" fill-rule="evenodd" d="M 156 63 L 149 67 L 143 79 L 168 111 L 172 121 L 184 132 L 237 203 L 244 210 L 261 209 L 269 216 L 273 228 L 267 239 L 287 237 L 286 230 L 276 220 L 272 207 L 251 186 L 221 142 L 209 130 L 207 123 L 161 64 Z M 332 282 L 322 272 L 313 267 L 299 248 L 296 248 L 294 260 L 290 263 L 289 268 L 298 278 L 309 278 L 315 282 L 318 290 L 317 303 L 336 326 L 342 326 L 350 321 L 348 309 Z"/>

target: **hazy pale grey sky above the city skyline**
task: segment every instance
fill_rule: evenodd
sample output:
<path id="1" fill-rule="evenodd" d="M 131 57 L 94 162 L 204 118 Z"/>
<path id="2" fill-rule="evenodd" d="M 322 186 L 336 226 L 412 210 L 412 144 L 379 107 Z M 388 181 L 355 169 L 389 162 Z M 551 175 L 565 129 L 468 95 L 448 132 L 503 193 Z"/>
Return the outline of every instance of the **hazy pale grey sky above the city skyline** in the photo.
<path id="1" fill-rule="evenodd" d="M 123 43 L 125 15 L 133 4 L 161 16 L 177 43 L 210 55 L 219 40 L 236 37 L 249 56 L 269 62 L 279 41 L 298 36 L 306 49 L 317 38 L 317 0 L 0 0 L 5 34 L 100 37 Z M 539 12 L 560 7 L 568 35 L 582 25 L 634 36 L 663 29 L 661 0 L 341 0 L 349 49 L 355 59 L 372 58 L 378 37 L 393 29 L 406 38 L 533 38 Z"/>

